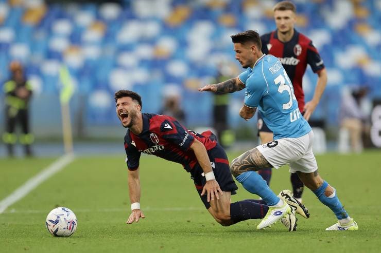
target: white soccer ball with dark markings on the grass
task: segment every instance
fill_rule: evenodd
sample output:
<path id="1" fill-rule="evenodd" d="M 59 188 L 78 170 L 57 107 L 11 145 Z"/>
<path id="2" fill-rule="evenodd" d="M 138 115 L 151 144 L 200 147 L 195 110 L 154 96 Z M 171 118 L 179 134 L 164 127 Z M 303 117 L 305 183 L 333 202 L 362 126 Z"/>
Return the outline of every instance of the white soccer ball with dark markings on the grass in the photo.
<path id="1" fill-rule="evenodd" d="M 46 217 L 46 228 L 53 236 L 70 237 L 77 229 L 77 217 L 66 207 L 51 210 Z"/>

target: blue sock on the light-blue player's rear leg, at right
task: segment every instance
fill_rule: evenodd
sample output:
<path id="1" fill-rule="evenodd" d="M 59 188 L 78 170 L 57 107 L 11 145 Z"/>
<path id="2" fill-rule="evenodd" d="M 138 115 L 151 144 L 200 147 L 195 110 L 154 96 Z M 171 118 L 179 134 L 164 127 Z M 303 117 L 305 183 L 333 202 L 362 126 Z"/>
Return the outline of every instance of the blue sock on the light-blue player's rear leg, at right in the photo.
<path id="1" fill-rule="evenodd" d="M 331 208 L 331 210 L 335 213 L 338 220 L 342 220 L 348 217 L 347 211 L 345 211 L 344 207 L 337 198 L 336 190 L 334 189 L 334 193 L 330 197 L 326 197 L 324 194 L 325 189 L 327 188 L 328 183 L 324 181 L 324 183 L 314 190 L 315 195 L 318 197 L 321 203 Z"/>

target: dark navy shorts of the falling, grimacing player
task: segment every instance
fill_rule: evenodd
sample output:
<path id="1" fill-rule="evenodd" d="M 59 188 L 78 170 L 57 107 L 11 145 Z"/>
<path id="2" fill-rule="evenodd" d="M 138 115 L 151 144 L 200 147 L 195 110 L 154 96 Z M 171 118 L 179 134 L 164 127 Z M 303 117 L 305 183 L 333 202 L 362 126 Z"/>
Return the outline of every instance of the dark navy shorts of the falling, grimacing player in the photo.
<path id="1" fill-rule="evenodd" d="M 218 182 L 221 190 L 230 191 L 231 194 L 236 194 L 235 190 L 238 189 L 235 184 L 232 174 L 230 173 L 229 168 L 229 160 L 225 153 L 225 150 L 217 144 L 216 147 L 207 151 L 209 155 L 209 160 L 211 161 L 214 176 L 216 177 L 216 181 Z M 207 196 L 201 196 L 202 188 L 206 183 L 206 179 L 202 176 L 203 170 L 201 166 L 197 163 L 195 167 L 190 170 L 190 178 L 195 182 L 195 186 L 198 194 L 200 195 L 201 201 L 204 203 L 206 209 L 209 209 L 211 206 L 209 202 L 207 202 Z"/>

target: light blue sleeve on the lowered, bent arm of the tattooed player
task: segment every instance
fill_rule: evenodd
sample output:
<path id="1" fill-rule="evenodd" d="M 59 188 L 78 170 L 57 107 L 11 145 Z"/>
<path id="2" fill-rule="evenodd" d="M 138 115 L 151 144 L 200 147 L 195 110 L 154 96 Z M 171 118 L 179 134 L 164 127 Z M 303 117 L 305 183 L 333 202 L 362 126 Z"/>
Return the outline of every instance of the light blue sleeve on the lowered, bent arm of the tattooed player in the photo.
<path id="1" fill-rule="evenodd" d="M 245 105 L 250 108 L 258 107 L 259 101 L 267 93 L 267 84 L 264 77 L 257 80 L 254 79 L 255 77 L 250 77 L 250 81 L 246 85 Z"/>

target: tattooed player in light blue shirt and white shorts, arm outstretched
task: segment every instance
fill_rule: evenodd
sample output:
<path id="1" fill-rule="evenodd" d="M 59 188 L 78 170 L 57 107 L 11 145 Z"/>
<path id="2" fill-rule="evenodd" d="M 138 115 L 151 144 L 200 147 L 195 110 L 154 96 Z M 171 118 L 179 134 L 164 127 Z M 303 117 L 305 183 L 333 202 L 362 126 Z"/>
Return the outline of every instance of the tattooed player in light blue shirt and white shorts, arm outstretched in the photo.
<path id="1" fill-rule="evenodd" d="M 257 228 L 273 224 L 290 210 L 255 171 L 267 167 L 278 169 L 288 164 L 290 171 L 298 173 L 303 183 L 335 213 L 338 222 L 326 230 L 357 230 L 356 222 L 345 211 L 336 190 L 319 176 L 312 151 L 314 133 L 301 115 L 291 81 L 281 62 L 274 56 L 262 53 L 257 32 L 245 31 L 231 37 L 235 57 L 247 71 L 235 79 L 206 85 L 199 90 L 235 92 L 246 88 L 245 102 L 239 115 L 249 120 L 258 109 L 274 133 L 272 142 L 241 154 L 230 166 L 237 181 L 269 205 L 266 217 Z"/>

